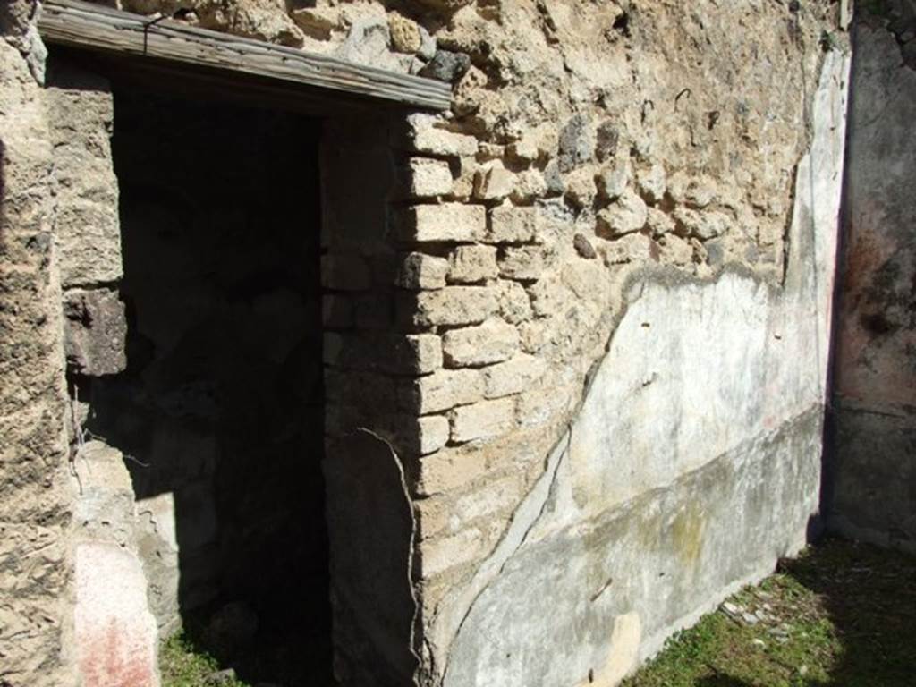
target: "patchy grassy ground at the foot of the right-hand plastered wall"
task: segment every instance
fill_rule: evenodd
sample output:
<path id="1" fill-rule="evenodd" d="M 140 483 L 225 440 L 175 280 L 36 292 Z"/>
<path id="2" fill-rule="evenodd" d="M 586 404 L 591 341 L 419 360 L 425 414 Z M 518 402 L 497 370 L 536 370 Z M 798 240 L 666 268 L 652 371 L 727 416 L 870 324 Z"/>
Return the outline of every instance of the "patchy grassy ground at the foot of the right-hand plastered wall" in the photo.
<path id="1" fill-rule="evenodd" d="M 826 541 L 727 604 L 671 638 L 624 687 L 916 685 L 910 557 Z"/>

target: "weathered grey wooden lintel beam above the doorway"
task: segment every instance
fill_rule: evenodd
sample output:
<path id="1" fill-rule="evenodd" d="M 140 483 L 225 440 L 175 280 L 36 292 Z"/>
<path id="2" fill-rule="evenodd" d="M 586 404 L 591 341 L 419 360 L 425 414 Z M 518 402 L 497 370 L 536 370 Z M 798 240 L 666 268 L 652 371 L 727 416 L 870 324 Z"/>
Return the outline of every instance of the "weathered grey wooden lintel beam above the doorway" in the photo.
<path id="1" fill-rule="evenodd" d="M 452 103 L 452 90 L 442 82 L 80 0 L 47 0 L 38 30 L 49 43 L 239 71 L 348 97 L 431 110 Z"/>

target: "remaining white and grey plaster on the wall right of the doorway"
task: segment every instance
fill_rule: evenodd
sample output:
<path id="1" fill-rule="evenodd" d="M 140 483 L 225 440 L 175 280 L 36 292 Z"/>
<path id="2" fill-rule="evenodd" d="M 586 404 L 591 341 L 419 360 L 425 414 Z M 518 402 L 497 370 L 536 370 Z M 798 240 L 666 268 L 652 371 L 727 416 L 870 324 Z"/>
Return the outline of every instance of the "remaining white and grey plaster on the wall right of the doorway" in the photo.
<path id="1" fill-rule="evenodd" d="M 725 270 L 713 281 L 672 277 L 660 271 L 644 273 L 641 280 L 634 276 L 625 291 L 631 297 L 625 314 L 617 322 L 605 359 L 594 370 L 594 375 L 589 376 L 584 406 L 578 418 L 551 453 L 534 488 L 513 513 L 507 533 L 496 550 L 481 564 L 471 583 L 444 602 L 431 620 L 428 649 L 433 674 L 439 671 L 443 684 L 448 687 L 496 682 L 520 685 L 532 679 L 544 685 L 554 684 L 547 674 L 531 672 L 535 669 L 530 660 L 526 660 L 524 649 L 521 655 L 511 649 L 514 644 L 520 649 L 530 641 L 537 643 L 537 638 L 522 637 L 530 634 L 526 627 L 513 626 L 510 634 L 515 639 L 502 633 L 498 642 L 505 646 L 506 653 L 497 663 L 481 664 L 479 661 L 485 659 L 476 652 L 483 651 L 493 658 L 497 649 L 488 645 L 497 638 L 481 638 L 483 628 L 478 626 L 483 618 L 500 617 L 512 608 L 516 608 L 512 613 L 518 614 L 518 605 L 524 606 L 525 599 L 530 601 L 526 594 L 531 594 L 530 590 L 536 586 L 533 580 L 525 578 L 551 575 L 548 560 L 557 556 L 562 558 L 560 564 L 563 566 L 562 573 L 558 571 L 557 574 L 572 575 L 572 579 L 577 580 L 568 589 L 558 588 L 557 594 L 576 596 L 573 590 L 580 589 L 591 592 L 593 603 L 597 601 L 608 608 L 620 609 L 613 614 L 615 619 L 605 630 L 608 633 L 605 638 L 610 635 L 616 640 L 611 642 L 610 648 L 606 639 L 584 641 L 583 637 L 571 637 L 566 642 L 564 638 L 564 644 L 568 644 L 564 657 L 566 665 L 574 669 L 591 663 L 585 670 L 592 671 L 592 678 L 611 685 L 632 670 L 637 660 L 634 657 L 644 659 L 657 650 L 665 637 L 686 622 L 695 620 L 701 610 L 725 594 L 732 584 L 763 574 L 777 556 L 796 551 L 803 542 L 807 520 L 818 506 L 820 437 L 848 68 L 848 56 L 838 51 L 828 53 L 823 60 L 819 88 L 812 96 L 815 126 L 811 149 L 802 157 L 797 169 L 791 215 L 792 240 L 784 285 L 780 288 L 758 281 L 742 275 L 740 269 Z M 645 326 L 647 322 L 649 327 Z M 706 347 L 713 344 L 711 335 L 716 337 L 717 347 L 710 355 L 721 361 L 721 365 L 703 359 Z M 666 348 L 672 344 L 682 345 L 680 352 L 672 353 Z M 697 355 L 700 358 L 694 359 Z M 734 376 L 747 369 L 756 370 L 759 378 Z M 800 369 L 804 370 L 801 376 Z M 645 383 L 647 380 L 650 384 Z M 615 388 L 617 391 L 613 391 Z M 761 398 L 729 396 L 744 388 L 761 389 Z M 692 400 L 681 398 L 691 389 Z M 721 396 L 723 393 L 725 396 Z M 719 397 L 721 406 L 699 415 L 678 415 L 671 424 L 671 431 L 680 434 L 681 438 L 673 444 L 674 437 L 664 431 L 666 425 L 662 423 L 662 431 L 654 431 L 665 412 L 702 410 L 710 394 L 713 399 Z M 665 398 L 672 395 L 676 398 L 671 401 L 673 408 L 665 410 Z M 595 400 L 602 397 L 605 398 L 603 402 Z M 640 397 L 651 400 L 634 407 L 634 399 Z M 628 414 L 631 423 L 621 424 L 621 414 Z M 594 423 L 588 426 L 590 417 L 594 418 Z M 651 426 L 647 425 L 646 418 L 652 418 Z M 710 421 L 714 426 L 708 426 Z M 735 427 L 730 427 L 730 423 L 736 423 Z M 614 426 L 620 433 L 608 434 L 608 427 Z M 647 431 L 649 434 L 643 437 L 647 442 L 646 458 L 656 455 L 653 446 L 667 449 L 672 445 L 677 447 L 678 442 L 681 444 L 681 449 L 673 454 L 674 463 L 665 463 L 669 459 L 664 459 L 658 463 L 655 474 L 648 475 L 644 474 L 646 464 L 642 454 L 632 451 L 632 442 Z M 603 434 L 604 439 L 596 438 Z M 723 441 L 710 446 L 708 439 L 704 439 L 709 436 L 722 437 Z M 594 445 L 581 444 L 586 439 Z M 582 460 L 576 464 L 573 460 L 576 455 L 594 464 L 587 467 Z M 608 455 L 613 456 L 609 463 Z M 793 464 L 793 455 L 803 455 L 804 460 Z M 803 478 L 795 474 L 800 470 Z M 775 471 L 775 474 L 761 474 L 768 471 Z M 696 479 L 714 478 L 716 486 L 712 488 L 731 490 L 736 503 L 754 504 L 749 507 L 748 518 L 762 518 L 762 522 L 735 523 L 736 530 L 743 532 L 743 544 L 749 547 L 744 553 L 733 551 L 734 555 L 750 559 L 738 566 L 740 570 L 731 570 L 735 567 L 735 562 L 731 561 L 722 561 L 710 568 L 711 557 L 728 557 L 727 549 L 709 548 L 711 537 L 721 540 L 724 536 L 722 524 L 728 518 L 723 519 L 721 511 L 707 513 L 703 510 L 691 515 L 683 509 L 688 501 L 682 501 L 673 512 L 658 510 L 660 504 L 671 501 L 675 493 L 684 493 L 688 482 L 694 479 L 687 476 L 691 474 L 697 475 Z M 604 487 L 594 491 L 595 480 L 604 483 Z M 587 494 L 573 495 L 573 485 L 577 482 L 588 489 Z M 620 491 L 617 485 L 621 484 L 628 486 Z M 764 486 L 775 493 L 770 496 L 761 493 Z M 632 510 L 637 502 L 644 504 L 640 507 L 643 510 Z M 673 504 L 669 504 L 669 508 L 671 506 Z M 783 517 L 780 527 L 772 521 L 774 510 L 780 511 Z M 636 512 L 642 515 L 637 516 Z M 652 512 L 655 515 L 649 517 Z M 671 518 L 666 518 L 666 512 Z M 692 591 L 681 589 L 678 596 L 671 596 L 674 593 L 671 583 L 663 580 L 641 583 L 622 580 L 618 584 L 623 586 L 617 588 L 614 576 L 609 575 L 606 568 L 602 572 L 587 573 L 587 566 L 592 565 L 586 562 L 590 560 L 587 541 L 592 536 L 590 532 L 604 527 L 599 523 L 606 522 L 607 518 L 627 522 L 628 513 L 634 513 L 636 518 L 649 517 L 647 522 L 655 523 L 640 526 L 649 528 L 643 543 L 638 544 L 638 547 L 645 547 L 639 555 L 647 567 L 651 567 L 652 562 L 667 561 L 669 554 L 680 556 L 679 566 L 689 573 L 690 579 L 706 571 L 705 583 L 692 586 Z M 631 529 L 636 524 L 623 527 Z M 661 531 L 669 533 L 667 537 L 677 540 L 671 542 L 670 549 L 653 552 L 658 541 L 650 533 L 656 528 L 662 528 Z M 726 529 L 734 534 L 730 521 Z M 567 542 L 573 551 L 578 551 L 576 546 L 584 547 L 579 554 L 583 558 L 578 559 L 573 551 L 564 551 L 554 552 L 553 558 L 529 560 L 536 551 L 551 550 L 560 546 L 560 542 Z M 615 544 L 608 542 L 616 551 Z M 758 548 L 754 549 L 755 546 Z M 633 551 L 629 551 L 627 557 L 632 555 Z M 728 572 L 724 572 L 725 569 Z M 713 582 L 708 577 L 710 571 L 716 578 L 723 574 L 731 577 Z M 583 587 L 578 575 L 595 577 L 596 588 Z M 653 587 L 659 585 L 661 588 L 653 591 Z M 488 598 L 484 604 L 485 595 Z M 684 611 L 671 616 L 668 605 L 674 598 L 681 599 L 678 607 Z M 543 603 L 544 598 L 539 601 Z M 568 603 L 573 604 L 574 610 L 551 609 L 556 623 L 568 625 L 576 617 L 579 621 L 569 627 L 579 627 L 577 632 L 592 637 L 600 631 L 604 622 L 601 617 L 606 617 L 606 611 L 592 617 L 579 607 L 581 601 L 573 599 Z M 653 616 L 649 627 L 638 610 L 649 607 L 647 605 L 652 608 Z M 570 613 L 573 615 L 568 616 Z M 457 671 L 456 677 L 453 665 L 459 660 L 455 655 L 456 647 L 470 631 L 467 627 L 473 616 L 477 618 L 472 633 L 474 638 L 467 640 L 470 644 L 464 642 L 462 670 Z M 506 616 L 504 623 L 509 622 Z M 648 632 L 648 637 L 644 632 Z M 600 662 L 603 668 L 595 672 L 594 661 L 587 657 L 598 650 L 595 647 L 602 645 L 605 647 L 605 660 Z M 614 645 L 623 646 L 616 649 Z M 474 665 L 468 665 L 467 660 L 474 660 Z M 469 675 L 474 675 L 471 682 L 468 682 Z"/>

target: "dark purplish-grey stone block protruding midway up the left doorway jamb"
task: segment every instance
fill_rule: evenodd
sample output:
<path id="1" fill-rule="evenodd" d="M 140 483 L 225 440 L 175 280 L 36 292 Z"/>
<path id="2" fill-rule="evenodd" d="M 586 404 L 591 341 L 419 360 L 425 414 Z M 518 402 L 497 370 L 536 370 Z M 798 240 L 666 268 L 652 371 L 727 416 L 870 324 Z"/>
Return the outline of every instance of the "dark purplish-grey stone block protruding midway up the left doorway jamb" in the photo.
<path id="1" fill-rule="evenodd" d="M 64 350 L 81 375 L 114 375 L 127 366 L 124 303 L 109 289 L 64 293 Z"/>

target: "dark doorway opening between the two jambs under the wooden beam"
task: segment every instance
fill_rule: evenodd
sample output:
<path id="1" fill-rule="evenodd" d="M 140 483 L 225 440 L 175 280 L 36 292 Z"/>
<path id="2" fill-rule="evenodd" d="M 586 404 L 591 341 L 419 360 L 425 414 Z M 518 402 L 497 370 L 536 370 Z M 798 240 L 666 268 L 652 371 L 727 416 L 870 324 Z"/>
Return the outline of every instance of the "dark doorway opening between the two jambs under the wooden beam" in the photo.
<path id="1" fill-rule="evenodd" d="M 331 684 L 320 124 L 113 86 L 127 369 L 85 393 L 154 612 L 247 682 Z"/>

